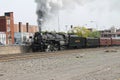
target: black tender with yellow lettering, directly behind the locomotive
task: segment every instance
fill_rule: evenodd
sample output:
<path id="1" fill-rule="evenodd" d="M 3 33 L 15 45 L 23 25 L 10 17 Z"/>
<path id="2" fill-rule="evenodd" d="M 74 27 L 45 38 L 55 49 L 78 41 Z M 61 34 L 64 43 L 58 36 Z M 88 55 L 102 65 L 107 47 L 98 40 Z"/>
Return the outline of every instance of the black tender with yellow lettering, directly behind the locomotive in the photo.
<path id="1" fill-rule="evenodd" d="M 77 35 L 69 35 L 68 48 L 83 48 L 85 47 L 85 38 Z"/>

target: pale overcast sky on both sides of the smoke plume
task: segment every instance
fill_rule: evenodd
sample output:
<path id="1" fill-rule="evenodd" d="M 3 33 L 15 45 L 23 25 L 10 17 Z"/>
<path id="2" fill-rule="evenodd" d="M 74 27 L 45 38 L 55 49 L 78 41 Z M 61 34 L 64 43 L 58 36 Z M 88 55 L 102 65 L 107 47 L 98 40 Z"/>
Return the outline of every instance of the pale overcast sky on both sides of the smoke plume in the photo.
<path id="1" fill-rule="evenodd" d="M 0 0 L 0 15 L 9 11 L 14 12 L 15 23 L 29 22 L 31 25 L 37 25 L 34 0 Z M 60 28 L 58 28 L 58 15 L 46 22 L 44 30 L 63 31 L 68 30 L 70 25 L 84 25 L 97 29 L 108 29 L 114 25 L 120 28 L 120 0 L 91 0 L 76 5 L 75 8 L 62 10 L 59 12 Z"/>

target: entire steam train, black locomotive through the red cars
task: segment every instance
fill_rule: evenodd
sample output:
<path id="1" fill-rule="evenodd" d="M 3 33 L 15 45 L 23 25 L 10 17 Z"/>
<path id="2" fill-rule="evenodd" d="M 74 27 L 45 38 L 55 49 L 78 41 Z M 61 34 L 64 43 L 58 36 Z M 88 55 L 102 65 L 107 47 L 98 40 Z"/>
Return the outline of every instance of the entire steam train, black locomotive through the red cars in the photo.
<path id="1" fill-rule="evenodd" d="M 117 38 L 84 38 L 73 34 L 36 32 L 32 42 L 33 52 L 50 52 L 65 49 L 93 48 L 120 45 Z"/>

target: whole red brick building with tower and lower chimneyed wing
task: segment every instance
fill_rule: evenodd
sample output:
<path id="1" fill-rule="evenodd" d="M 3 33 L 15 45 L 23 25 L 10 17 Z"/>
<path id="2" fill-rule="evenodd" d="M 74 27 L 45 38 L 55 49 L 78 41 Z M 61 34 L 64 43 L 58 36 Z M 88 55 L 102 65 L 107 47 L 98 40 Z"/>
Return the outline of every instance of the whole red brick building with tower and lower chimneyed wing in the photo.
<path id="1" fill-rule="evenodd" d="M 37 31 L 38 27 L 29 25 L 29 23 L 22 24 L 22 22 L 19 22 L 14 24 L 13 12 L 6 12 L 4 16 L 0 16 L 0 32 L 6 34 L 6 44 L 14 44 L 18 38 L 18 42 L 23 42 L 23 37 L 27 36 L 29 38 Z"/>

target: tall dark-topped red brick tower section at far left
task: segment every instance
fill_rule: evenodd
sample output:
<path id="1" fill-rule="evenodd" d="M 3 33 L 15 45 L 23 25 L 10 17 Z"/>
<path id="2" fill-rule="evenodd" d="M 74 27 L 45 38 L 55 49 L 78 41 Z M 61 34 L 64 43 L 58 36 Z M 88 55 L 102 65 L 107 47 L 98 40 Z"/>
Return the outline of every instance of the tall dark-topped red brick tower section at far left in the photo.
<path id="1" fill-rule="evenodd" d="M 6 44 L 14 43 L 14 17 L 13 12 L 7 12 L 0 16 L 0 32 L 6 33 Z"/>

